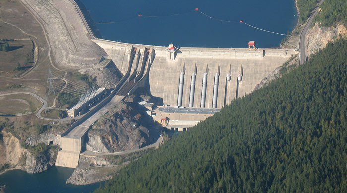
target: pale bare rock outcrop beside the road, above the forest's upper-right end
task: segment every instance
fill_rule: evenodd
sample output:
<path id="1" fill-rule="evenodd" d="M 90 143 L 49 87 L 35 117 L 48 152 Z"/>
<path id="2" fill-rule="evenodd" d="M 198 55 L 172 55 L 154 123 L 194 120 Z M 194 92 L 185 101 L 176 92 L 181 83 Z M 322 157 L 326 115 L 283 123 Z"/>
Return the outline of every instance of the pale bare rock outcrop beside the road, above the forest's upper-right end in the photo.
<path id="1" fill-rule="evenodd" d="M 327 46 L 341 37 L 347 37 L 347 29 L 342 24 L 336 27 L 319 27 L 316 23 L 308 32 L 306 37 L 308 55 L 316 53 L 319 49 Z"/>

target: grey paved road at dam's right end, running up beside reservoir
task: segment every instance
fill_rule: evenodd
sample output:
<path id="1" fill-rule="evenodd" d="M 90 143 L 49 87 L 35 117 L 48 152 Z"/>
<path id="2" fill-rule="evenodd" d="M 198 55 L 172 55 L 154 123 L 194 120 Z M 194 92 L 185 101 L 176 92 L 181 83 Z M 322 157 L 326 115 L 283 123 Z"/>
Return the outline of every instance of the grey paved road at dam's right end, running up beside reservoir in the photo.
<path id="1" fill-rule="evenodd" d="M 301 32 L 300 35 L 300 42 L 299 42 L 299 51 L 300 51 L 300 65 L 304 64 L 306 62 L 306 43 L 305 43 L 305 38 L 306 38 L 306 34 L 308 32 L 308 30 L 310 29 L 310 26 L 313 22 L 313 19 L 316 17 L 316 15 L 318 14 L 318 7 L 324 2 L 324 0 L 320 0 L 317 7 L 313 10 L 313 12 L 311 13 L 311 16 L 308 18 L 308 21 L 304 27 L 304 29 Z"/>

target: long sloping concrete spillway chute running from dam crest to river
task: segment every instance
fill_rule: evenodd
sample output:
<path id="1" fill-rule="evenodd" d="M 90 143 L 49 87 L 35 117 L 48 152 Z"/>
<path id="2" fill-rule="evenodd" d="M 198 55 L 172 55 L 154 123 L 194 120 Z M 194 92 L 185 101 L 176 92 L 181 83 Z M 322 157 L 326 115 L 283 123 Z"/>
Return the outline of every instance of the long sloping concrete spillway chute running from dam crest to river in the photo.
<path id="1" fill-rule="evenodd" d="M 141 53 L 143 50 L 143 53 Z M 76 168 L 82 150 L 86 149 L 89 129 L 101 116 L 132 93 L 146 79 L 152 62 L 150 48 L 130 48 L 128 70 L 109 97 L 71 125 L 61 135 L 61 150 L 58 151 L 56 166 Z"/>

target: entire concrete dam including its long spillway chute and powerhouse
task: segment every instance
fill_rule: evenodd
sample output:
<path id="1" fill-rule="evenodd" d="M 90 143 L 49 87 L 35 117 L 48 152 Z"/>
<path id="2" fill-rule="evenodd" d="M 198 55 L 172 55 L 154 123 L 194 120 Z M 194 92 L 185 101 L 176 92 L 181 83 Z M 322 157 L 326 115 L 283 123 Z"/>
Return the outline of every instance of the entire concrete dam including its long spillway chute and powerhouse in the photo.
<path id="1" fill-rule="evenodd" d="M 163 127 L 185 131 L 254 90 L 267 75 L 297 54 L 285 49 L 177 48 L 93 39 L 124 77 L 101 104 L 61 135 L 56 166 L 75 168 L 91 125 L 138 87 L 162 105 L 152 117 Z"/>

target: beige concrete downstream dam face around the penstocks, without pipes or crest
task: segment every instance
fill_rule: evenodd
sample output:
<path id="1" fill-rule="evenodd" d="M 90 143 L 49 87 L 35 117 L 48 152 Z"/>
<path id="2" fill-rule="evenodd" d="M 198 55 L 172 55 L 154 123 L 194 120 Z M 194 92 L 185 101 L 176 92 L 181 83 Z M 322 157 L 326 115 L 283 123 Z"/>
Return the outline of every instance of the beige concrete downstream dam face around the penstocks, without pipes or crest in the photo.
<path id="1" fill-rule="evenodd" d="M 177 105 L 179 75 L 185 66 L 185 78 L 182 106 L 189 105 L 190 81 L 192 73 L 197 66 L 194 107 L 200 107 L 202 93 L 202 78 L 208 68 L 207 92 L 205 107 L 212 107 L 214 75 L 220 66 L 219 90 L 217 108 L 229 104 L 236 97 L 237 76 L 243 66 L 243 80 L 239 85 L 239 97 L 253 91 L 254 87 L 268 74 L 282 65 L 289 57 L 267 57 L 262 59 L 201 59 L 179 58 L 175 62 L 168 62 L 166 58 L 156 56 L 151 66 L 149 83 L 151 94 L 163 98 L 163 103 L 171 106 Z M 231 80 L 226 81 L 230 72 Z"/>

